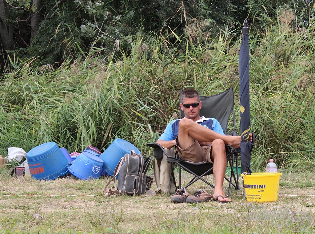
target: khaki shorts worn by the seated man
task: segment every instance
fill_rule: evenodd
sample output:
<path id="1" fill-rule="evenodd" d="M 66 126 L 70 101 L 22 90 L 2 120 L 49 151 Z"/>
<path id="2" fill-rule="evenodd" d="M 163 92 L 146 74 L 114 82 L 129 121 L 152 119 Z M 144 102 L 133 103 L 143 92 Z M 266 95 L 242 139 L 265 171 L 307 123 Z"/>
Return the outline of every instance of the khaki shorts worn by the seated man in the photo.
<path id="1" fill-rule="evenodd" d="M 176 141 L 175 148 L 181 159 L 193 163 L 199 162 L 213 163 L 213 161 L 210 159 L 211 144 L 208 146 L 201 146 L 199 142 L 195 140 L 195 142 L 192 145 L 188 146 L 185 149 L 182 149 L 178 145 L 178 136 L 176 137 L 175 141 Z M 227 144 L 225 144 L 225 150 L 227 153 L 231 152 L 231 149 L 228 147 Z"/>

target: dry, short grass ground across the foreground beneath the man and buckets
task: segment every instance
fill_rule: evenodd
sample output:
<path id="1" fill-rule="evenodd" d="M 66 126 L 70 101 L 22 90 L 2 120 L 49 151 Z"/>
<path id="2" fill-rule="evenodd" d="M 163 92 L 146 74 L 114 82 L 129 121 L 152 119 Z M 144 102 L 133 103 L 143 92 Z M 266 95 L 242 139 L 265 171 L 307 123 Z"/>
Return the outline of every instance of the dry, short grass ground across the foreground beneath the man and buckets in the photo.
<path id="1" fill-rule="evenodd" d="M 314 233 L 314 172 L 281 172 L 276 202 L 247 202 L 241 189 L 231 203 L 175 204 L 167 193 L 106 198 L 109 177 L 38 181 L 2 169 L 0 233 Z M 204 183 L 187 191 L 199 188 L 213 192 Z"/>

